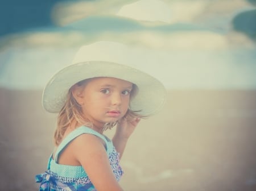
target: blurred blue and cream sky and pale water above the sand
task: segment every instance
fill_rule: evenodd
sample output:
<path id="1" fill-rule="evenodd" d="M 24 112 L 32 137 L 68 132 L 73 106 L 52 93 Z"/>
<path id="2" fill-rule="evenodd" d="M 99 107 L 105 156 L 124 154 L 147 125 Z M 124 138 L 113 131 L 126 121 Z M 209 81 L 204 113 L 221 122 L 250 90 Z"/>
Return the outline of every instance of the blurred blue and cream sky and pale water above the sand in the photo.
<path id="1" fill-rule="evenodd" d="M 253 0 L 26 0 L 0 14 L 0 87 L 43 89 L 89 45 L 167 89 L 256 89 Z"/>

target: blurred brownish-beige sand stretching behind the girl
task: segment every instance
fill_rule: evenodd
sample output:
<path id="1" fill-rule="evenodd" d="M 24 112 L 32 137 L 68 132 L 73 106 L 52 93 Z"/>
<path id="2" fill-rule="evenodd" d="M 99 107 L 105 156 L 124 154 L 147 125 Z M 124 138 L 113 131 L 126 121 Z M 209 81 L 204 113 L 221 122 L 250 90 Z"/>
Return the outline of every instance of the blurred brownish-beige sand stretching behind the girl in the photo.
<path id="1" fill-rule="evenodd" d="M 55 114 L 42 91 L 0 89 L 0 190 L 37 190 L 52 152 Z M 113 132 L 106 132 L 112 136 Z M 170 90 L 121 160 L 124 190 L 256 190 L 256 91 Z"/>

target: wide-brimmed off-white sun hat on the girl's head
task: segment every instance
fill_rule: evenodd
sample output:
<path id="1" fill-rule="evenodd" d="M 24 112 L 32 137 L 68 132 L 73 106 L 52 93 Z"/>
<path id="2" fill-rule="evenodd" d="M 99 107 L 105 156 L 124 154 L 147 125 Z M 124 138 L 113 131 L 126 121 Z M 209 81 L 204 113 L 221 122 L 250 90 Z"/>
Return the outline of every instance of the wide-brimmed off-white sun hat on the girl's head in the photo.
<path id="1" fill-rule="evenodd" d="M 42 97 L 44 109 L 50 113 L 59 113 L 64 106 L 71 86 L 93 77 L 114 77 L 135 84 L 138 89 L 136 95 L 130 101 L 129 108 L 138 111 L 138 114 L 152 115 L 162 109 L 166 100 L 166 89 L 163 84 L 141 70 L 129 67 L 121 62 L 110 61 L 108 51 L 111 53 L 109 49 L 111 47 L 107 46 L 105 48 L 104 55 L 108 55 L 108 59 L 104 56 L 92 58 L 90 53 L 99 51 L 95 45 L 81 47 L 76 53 L 72 65 L 55 73 L 45 86 Z"/>

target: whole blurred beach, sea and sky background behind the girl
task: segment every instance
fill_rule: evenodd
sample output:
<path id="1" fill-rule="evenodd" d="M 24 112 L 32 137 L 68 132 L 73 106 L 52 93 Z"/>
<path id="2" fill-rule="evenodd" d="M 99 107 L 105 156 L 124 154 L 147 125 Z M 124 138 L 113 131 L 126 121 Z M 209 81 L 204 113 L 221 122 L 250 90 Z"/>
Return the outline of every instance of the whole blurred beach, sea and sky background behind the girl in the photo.
<path id="1" fill-rule="evenodd" d="M 124 190 L 256 190 L 255 0 L 3 1 L 0 23 L 0 190 L 38 189 L 56 125 L 43 87 L 101 41 L 167 88 L 127 144 Z"/>

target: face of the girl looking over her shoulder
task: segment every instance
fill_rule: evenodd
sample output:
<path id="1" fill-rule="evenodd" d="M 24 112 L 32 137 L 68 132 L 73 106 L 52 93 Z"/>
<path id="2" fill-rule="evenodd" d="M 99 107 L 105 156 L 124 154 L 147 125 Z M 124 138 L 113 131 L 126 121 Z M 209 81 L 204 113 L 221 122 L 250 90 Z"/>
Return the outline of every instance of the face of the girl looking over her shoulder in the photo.
<path id="1" fill-rule="evenodd" d="M 133 84 L 112 77 L 91 78 L 77 88 L 77 102 L 84 117 L 96 127 L 116 122 L 127 112 Z"/>

